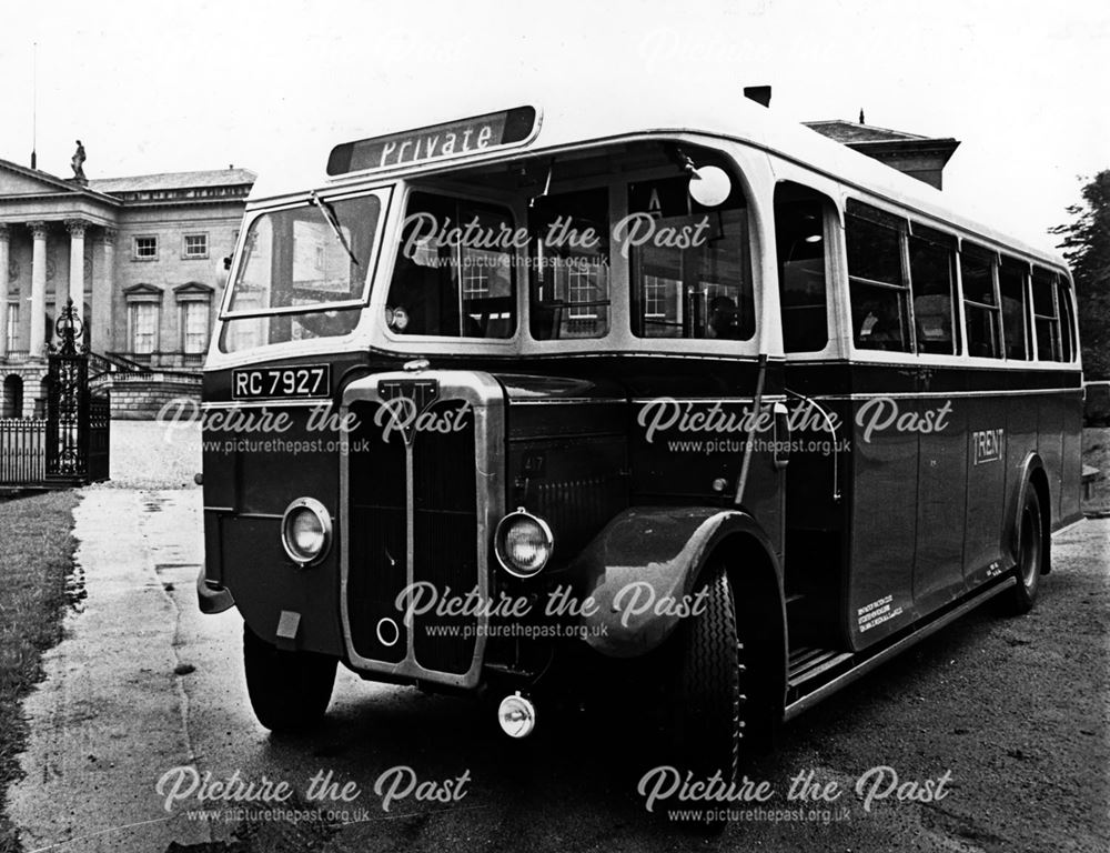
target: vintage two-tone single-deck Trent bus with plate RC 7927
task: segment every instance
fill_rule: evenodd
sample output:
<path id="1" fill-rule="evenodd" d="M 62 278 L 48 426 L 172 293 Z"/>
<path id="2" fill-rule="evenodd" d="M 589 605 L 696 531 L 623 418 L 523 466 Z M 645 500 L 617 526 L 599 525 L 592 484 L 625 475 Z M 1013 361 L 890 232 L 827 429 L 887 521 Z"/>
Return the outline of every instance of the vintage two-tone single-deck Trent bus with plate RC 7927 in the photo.
<path id="1" fill-rule="evenodd" d="M 204 368 L 200 601 L 272 730 L 339 662 L 514 736 L 624 671 L 735 771 L 1027 611 L 1080 518 L 1062 261 L 764 108 L 513 107 L 320 165 L 252 192 Z"/>

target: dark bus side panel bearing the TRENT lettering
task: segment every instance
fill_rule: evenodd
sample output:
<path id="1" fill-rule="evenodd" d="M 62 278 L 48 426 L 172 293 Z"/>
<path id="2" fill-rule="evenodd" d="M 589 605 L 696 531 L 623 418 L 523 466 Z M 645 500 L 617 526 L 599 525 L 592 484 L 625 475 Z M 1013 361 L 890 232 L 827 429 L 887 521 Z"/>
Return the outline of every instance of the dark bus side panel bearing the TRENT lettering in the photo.
<path id="1" fill-rule="evenodd" d="M 969 586 L 1005 568 L 1007 445 L 1012 441 L 1009 415 L 1016 399 L 985 391 L 963 400 L 968 408 L 963 572 Z"/>

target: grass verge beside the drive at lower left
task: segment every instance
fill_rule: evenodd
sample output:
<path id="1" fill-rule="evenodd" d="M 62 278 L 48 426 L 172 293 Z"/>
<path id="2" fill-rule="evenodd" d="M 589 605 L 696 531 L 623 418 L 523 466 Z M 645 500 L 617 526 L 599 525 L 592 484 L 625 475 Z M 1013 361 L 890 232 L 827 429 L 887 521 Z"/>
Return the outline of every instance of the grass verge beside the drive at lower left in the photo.
<path id="1" fill-rule="evenodd" d="M 0 501 L 0 853 L 20 850 L 7 813 L 27 742 L 20 701 L 42 678 L 42 652 L 61 640 L 78 501 L 68 491 Z"/>

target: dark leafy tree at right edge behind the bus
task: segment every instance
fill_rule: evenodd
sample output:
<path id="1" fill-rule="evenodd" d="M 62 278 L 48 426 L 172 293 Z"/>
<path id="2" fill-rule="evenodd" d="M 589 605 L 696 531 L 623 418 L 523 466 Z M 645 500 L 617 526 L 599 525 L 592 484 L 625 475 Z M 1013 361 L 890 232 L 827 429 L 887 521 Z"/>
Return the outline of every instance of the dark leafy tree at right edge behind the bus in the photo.
<path id="1" fill-rule="evenodd" d="M 1068 208 L 1074 218 L 1051 233 L 1076 280 L 1079 335 L 1087 379 L 1110 379 L 1110 169 L 1083 187 L 1083 202 Z"/>

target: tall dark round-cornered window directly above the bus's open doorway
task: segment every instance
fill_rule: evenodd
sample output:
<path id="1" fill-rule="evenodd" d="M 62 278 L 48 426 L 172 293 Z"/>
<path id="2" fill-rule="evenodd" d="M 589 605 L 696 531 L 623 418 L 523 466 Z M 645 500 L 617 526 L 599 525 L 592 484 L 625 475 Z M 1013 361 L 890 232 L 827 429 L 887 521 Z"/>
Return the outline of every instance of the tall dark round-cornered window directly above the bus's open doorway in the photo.
<path id="1" fill-rule="evenodd" d="M 784 181 L 775 188 L 775 242 L 787 352 L 815 352 L 829 341 L 825 211 L 830 205 L 825 195 L 797 183 Z"/>

